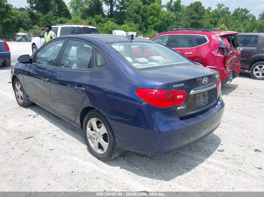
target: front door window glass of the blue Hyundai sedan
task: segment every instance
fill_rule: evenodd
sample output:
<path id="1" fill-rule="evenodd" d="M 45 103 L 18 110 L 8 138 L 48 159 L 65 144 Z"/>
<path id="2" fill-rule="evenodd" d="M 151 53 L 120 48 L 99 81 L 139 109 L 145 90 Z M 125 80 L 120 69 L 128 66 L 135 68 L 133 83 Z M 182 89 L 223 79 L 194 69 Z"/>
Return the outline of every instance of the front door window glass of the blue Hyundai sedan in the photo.
<path id="1" fill-rule="evenodd" d="M 33 63 L 56 66 L 55 62 L 63 42 L 64 40 L 57 40 L 47 44 L 43 49 L 37 52 Z"/>

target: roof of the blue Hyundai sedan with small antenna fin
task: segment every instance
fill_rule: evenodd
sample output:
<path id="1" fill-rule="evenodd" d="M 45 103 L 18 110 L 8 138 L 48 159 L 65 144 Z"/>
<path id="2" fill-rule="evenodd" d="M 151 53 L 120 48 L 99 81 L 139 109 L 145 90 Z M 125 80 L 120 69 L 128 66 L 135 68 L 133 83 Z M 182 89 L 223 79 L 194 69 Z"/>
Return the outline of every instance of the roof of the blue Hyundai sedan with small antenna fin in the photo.
<path id="1" fill-rule="evenodd" d="M 113 42 L 154 42 L 152 40 L 147 40 L 144 38 L 137 38 L 133 37 L 133 40 L 130 40 L 127 38 L 127 36 L 124 35 L 112 35 L 112 34 L 79 34 L 79 35 L 64 35 L 60 36 L 59 38 L 67 37 L 67 38 L 82 38 L 90 40 L 100 40 L 103 43 L 113 43 Z M 156 43 L 156 42 L 154 42 Z"/>

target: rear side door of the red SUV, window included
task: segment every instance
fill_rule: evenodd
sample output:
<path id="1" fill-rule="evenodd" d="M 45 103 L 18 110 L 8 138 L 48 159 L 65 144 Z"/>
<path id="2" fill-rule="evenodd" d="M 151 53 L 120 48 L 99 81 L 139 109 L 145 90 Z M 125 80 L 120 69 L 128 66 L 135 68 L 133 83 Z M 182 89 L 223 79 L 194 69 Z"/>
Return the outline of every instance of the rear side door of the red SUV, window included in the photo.
<path id="1" fill-rule="evenodd" d="M 195 35 L 192 34 L 173 34 L 171 35 L 169 47 L 178 51 L 190 60 L 194 59 L 197 47 Z"/>

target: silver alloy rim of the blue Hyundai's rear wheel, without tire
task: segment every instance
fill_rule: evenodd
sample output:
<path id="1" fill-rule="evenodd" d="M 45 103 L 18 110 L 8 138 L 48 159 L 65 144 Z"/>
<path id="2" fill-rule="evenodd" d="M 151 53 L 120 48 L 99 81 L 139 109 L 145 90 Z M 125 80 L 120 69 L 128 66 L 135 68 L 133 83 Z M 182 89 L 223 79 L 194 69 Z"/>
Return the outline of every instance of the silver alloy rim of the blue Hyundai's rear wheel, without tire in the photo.
<path id="1" fill-rule="evenodd" d="M 92 149 L 99 154 L 105 153 L 108 148 L 108 133 L 102 121 L 91 118 L 87 123 L 86 132 Z"/>

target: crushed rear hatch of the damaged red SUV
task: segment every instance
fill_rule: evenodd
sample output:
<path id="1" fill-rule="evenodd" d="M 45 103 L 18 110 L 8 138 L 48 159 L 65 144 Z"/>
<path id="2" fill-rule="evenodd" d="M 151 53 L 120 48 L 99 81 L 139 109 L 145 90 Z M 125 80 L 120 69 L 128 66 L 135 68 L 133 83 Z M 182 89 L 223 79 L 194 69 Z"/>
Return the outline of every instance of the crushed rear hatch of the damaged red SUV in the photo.
<path id="1" fill-rule="evenodd" d="M 222 31 L 216 33 L 215 36 L 222 49 L 222 54 L 226 56 L 225 66 L 227 73 L 234 71 L 238 75 L 241 69 L 241 52 L 237 34 L 238 32 L 234 31 Z"/>

